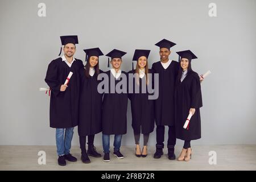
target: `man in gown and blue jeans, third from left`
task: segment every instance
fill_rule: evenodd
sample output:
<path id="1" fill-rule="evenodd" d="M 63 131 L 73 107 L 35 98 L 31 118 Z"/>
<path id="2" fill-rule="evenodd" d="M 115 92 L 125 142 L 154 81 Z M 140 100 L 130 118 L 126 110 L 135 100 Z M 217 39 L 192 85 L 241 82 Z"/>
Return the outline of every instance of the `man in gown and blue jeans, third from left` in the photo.
<path id="1" fill-rule="evenodd" d="M 106 56 L 111 57 L 112 69 L 105 72 L 108 76 L 108 92 L 104 93 L 102 108 L 102 145 L 104 150 L 104 162 L 109 162 L 110 135 L 114 135 L 114 155 L 122 159 L 120 152 L 122 135 L 127 130 L 127 73 L 121 71 L 122 56 L 126 52 L 113 49 Z M 122 84 L 122 82 L 124 84 Z M 120 86 L 118 86 L 120 85 Z M 121 90 L 117 90 L 117 87 Z"/>

